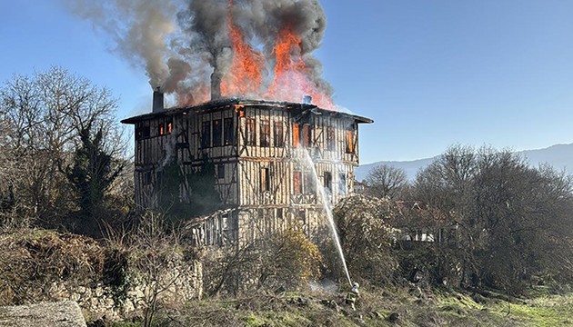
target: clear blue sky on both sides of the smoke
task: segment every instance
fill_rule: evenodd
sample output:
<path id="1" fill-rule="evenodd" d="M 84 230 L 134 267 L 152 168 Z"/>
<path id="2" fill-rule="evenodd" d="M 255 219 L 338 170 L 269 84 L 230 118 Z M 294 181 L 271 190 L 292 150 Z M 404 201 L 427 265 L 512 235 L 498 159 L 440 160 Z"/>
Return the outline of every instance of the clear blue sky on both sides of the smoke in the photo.
<path id="1" fill-rule="evenodd" d="M 573 143 L 573 1 L 323 0 L 317 57 L 335 102 L 375 120 L 361 163 L 413 160 L 450 144 L 515 150 Z M 0 81 L 61 65 L 150 110 L 143 68 L 59 0 L 0 0 Z"/>

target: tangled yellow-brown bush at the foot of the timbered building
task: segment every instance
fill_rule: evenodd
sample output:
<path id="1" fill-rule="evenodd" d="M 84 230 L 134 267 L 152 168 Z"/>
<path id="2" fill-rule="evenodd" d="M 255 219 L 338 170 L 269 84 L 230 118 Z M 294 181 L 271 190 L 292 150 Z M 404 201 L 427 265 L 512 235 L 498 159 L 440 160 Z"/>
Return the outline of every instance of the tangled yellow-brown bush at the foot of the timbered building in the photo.
<path id="1" fill-rule="evenodd" d="M 293 226 L 251 243 L 209 249 L 203 263 L 206 292 L 238 294 L 302 287 L 320 277 L 323 258 L 317 245 Z"/>

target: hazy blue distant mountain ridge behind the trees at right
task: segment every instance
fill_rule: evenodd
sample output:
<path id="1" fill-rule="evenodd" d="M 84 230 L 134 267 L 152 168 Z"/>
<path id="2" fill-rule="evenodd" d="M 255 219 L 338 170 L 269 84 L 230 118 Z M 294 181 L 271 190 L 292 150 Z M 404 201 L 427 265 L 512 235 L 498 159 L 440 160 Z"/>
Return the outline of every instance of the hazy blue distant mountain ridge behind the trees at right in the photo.
<path id="1" fill-rule="evenodd" d="M 518 151 L 523 155 L 528 163 L 537 167 L 541 163 L 548 163 L 555 169 L 565 169 L 568 173 L 573 174 L 573 144 L 556 144 L 545 149 Z M 360 165 L 355 170 L 357 181 L 366 178 L 368 172 L 379 164 L 389 164 L 391 166 L 402 168 L 406 171 L 410 180 L 416 178 L 416 173 L 428 164 L 432 163 L 436 157 L 427 159 L 418 159 L 414 161 L 381 161 L 377 163 L 368 163 Z"/>

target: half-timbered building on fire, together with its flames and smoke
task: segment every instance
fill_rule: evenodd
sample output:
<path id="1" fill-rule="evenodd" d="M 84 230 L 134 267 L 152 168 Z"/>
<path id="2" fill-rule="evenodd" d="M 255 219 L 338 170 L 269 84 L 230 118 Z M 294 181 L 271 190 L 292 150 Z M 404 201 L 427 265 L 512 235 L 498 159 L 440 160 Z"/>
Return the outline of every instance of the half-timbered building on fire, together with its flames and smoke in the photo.
<path id="1" fill-rule="evenodd" d="M 136 203 L 159 206 L 166 185 L 176 203 L 194 203 L 207 188 L 220 198 L 223 211 L 193 224 L 197 243 L 249 240 L 293 222 L 314 234 L 324 202 L 353 189 L 358 124 L 372 121 L 331 100 L 312 55 L 326 28 L 318 0 L 71 5 L 145 67 L 155 91 L 152 113 L 123 121 L 136 131 Z M 176 105 L 164 109 L 164 93 Z M 174 165 L 175 181 L 166 173 Z M 199 172 L 209 185 L 187 178 Z M 317 197 L 323 186 L 326 200 Z"/>

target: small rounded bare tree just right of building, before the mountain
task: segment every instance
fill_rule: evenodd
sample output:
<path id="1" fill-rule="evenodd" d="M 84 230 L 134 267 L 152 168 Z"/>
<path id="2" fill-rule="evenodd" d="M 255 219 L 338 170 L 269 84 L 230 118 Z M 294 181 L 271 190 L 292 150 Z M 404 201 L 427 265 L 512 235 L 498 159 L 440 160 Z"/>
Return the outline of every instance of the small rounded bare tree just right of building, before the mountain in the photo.
<path id="1" fill-rule="evenodd" d="M 367 194 L 378 198 L 397 198 L 407 187 L 407 173 L 404 169 L 380 164 L 374 167 L 366 178 Z"/>

